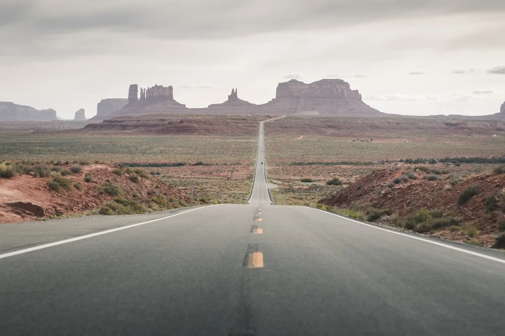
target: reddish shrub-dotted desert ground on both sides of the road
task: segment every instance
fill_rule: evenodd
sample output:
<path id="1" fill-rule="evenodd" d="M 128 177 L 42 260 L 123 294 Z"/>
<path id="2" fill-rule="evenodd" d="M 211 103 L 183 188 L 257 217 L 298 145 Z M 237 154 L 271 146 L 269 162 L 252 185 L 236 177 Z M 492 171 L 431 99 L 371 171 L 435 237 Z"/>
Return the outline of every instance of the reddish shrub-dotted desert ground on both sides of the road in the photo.
<path id="1" fill-rule="evenodd" d="M 110 183 L 121 187 L 125 199 L 143 195 L 138 200 L 146 211 L 187 206 L 191 191 L 193 204 L 244 203 L 252 185 L 258 123 L 271 117 L 149 115 L 88 124 L 2 123 L 0 160 L 4 169 L 16 166 L 19 173 L 0 179 L 2 222 L 37 217 L 6 206 L 13 193 L 45 200 L 43 218 L 117 213 L 104 205 L 115 199 L 103 192 Z M 265 136 L 276 204 L 319 207 L 483 246 L 494 246 L 505 230 L 505 181 L 496 173 L 505 163 L 503 122 L 289 116 L 266 123 Z M 51 190 L 54 175 L 76 164 L 83 171 L 69 178 L 83 189 Z M 52 175 L 35 178 L 36 166 Z M 95 176 L 94 185 L 83 180 L 86 172 Z M 460 195 L 475 186 L 459 204 Z M 156 191 L 160 188 L 163 192 Z M 166 198 L 161 205 L 153 200 L 160 195 Z M 409 216 L 422 218 L 413 224 Z"/>

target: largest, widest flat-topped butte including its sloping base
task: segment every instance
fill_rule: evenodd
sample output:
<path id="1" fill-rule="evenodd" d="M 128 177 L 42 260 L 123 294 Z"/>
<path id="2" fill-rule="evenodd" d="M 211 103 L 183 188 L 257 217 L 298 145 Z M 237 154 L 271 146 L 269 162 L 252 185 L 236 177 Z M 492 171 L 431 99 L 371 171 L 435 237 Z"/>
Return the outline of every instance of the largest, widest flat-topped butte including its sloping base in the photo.
<path id="1" fill-rule="evenodd" d="M 263 113 L 318 114 L 326 116 L 382 116 L 341 79 L 322 79 L 306 84 L 292 79 L 277 86 L 275 98 L 261 105 Z"/>

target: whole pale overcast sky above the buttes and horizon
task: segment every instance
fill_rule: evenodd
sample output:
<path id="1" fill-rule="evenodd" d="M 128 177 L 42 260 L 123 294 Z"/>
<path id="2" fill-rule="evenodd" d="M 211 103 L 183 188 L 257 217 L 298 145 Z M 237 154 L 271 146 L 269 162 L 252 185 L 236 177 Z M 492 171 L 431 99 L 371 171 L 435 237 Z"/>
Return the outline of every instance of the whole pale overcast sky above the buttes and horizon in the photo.
<path id="1" fill-rule="evenodd" d="M 90 118 L 132 83 L 205 107 L 341 78 L 387 113 L 493 114 L 504 17 L 503 0 L 0 0 L 0 101 Z"/>

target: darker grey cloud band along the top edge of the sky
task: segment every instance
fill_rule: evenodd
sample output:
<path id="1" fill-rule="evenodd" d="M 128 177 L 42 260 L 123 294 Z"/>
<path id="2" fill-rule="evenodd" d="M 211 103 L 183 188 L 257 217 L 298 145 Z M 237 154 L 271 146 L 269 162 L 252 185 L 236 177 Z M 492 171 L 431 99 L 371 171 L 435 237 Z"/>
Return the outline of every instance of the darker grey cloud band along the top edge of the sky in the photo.
<path id="1" fill-rule="evenodd" d="M 505 14 L 499 0 L 2 0 L 0 45 L 6 50 L 32 50 L 34 57 L 52 50 L 66 36 L 122 34 L 134 45 L 139 37 L 162 40 L 218 40 L 273 32 L 339 28 L 346 25 L 441 15 Z M 282 15 L 280 15 L 282 14 Z M 60 42 L 60 43 L 59 43 Z M 107 49 L 114 50 L 112 38 Z M 65 51 L 80 55 L 81 50 Z M 19 49 L 19 50 L 18 50 Z"/>

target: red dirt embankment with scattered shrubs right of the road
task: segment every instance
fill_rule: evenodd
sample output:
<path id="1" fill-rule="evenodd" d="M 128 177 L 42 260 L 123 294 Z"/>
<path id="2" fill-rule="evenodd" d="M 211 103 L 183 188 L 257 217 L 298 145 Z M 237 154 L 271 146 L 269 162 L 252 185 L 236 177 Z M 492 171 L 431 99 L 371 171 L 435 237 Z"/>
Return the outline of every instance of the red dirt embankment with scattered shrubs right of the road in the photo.
<path id="1" fill-rule="evenodd" d="M 323 199 L 320 203 L 347 208 L 351 204 L 370 204 L 376 209 L 391 209 L 400 218 L 408 216 L 421 208 L 442 210 L 461 219 L 461 223 L 471 223 L 478 229 L 476 240 L 484 245 L 492 245 L 498 234 L 498 222 L 505 219 L 505 174 L 481 174 L 458 180 L 453 186 L 450 181 L 428 181 L 422 179 L 422 172 L 416 172 L 418 179 L 388 188 L 395 177 L 406 173 L 377 171 L 351 184 L 338 194 Z M 477 195 L 459 205 L 461 193 L 469 186 L 478 186 Z M 501 200 L 492 211 L 486 209 L 484 198 L 498 191 Z M 464 241 L 461 233 L 442 230 L 444 238 Z M 438 235 L 437 232 L 435 235 Z"/>

